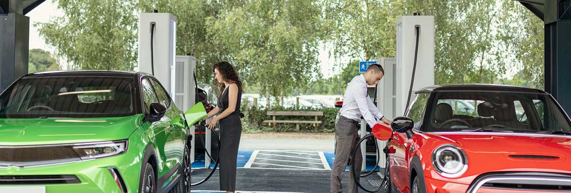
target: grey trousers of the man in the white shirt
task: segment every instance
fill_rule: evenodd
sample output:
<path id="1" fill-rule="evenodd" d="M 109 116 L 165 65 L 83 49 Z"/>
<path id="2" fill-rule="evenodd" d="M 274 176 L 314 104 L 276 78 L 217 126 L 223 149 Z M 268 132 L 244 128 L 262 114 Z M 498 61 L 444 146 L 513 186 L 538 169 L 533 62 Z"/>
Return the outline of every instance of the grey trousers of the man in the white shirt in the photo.
<path id="1" fill-rule="evenodd" d="M 335 130 L 335 135 L 337 137 L 337 147 L 335 149 L 335 161 L 333 161 L 333 168 L 331 169 L 331 186 L 329 187 L 329 192 L 337 193 L 343 192 L 343 186 L 341 186 L 341 178 L 343 178 L 343 173 L 345 172 L 345 166 L 347 166 L 349 161 L 353 159 L 352 151 L 357 143 L 359 142 L 359 133 L 357 133 L 357 122 L 349 118 L 341 116 L 339 122 L 337 122 L 337 128 Z M 357 179 L 361 174 L 361 165 L 363 165 L 363 157 L 361 155 L 361 147 L 357 146 L 357 153 L 355 155 L 355 170 L 357 173 Z M 357 184 L 353 178 L 353 170 L 349 167 L 349 192 L 358 192 Z"/>

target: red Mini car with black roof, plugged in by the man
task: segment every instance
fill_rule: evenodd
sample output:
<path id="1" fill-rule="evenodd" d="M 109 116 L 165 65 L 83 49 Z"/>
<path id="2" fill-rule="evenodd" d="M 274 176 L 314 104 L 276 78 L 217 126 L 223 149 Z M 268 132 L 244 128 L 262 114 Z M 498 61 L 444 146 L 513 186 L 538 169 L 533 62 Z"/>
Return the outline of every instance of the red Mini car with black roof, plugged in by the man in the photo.
<path id="1" fill-rule="evenodd" d="M 548 93 L 436 86 L 405 114 L 373 128 L 389 139 L 392 192 L 571 191 L 571 121 Z"/>

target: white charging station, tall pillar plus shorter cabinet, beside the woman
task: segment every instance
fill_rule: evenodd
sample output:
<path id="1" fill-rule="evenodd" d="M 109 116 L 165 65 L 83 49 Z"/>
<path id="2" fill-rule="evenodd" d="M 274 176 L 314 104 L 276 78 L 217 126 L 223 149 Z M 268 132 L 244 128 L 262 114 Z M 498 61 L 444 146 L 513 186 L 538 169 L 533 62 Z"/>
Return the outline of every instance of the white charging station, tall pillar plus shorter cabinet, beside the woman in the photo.
<path id="1" fill-rule="evenodd" d="M 176 56 L 176 17 L 170 13 L 139 14 L 139 72 L 154 75 L 183 112 L 195 105 L 196 58 Z M 190 133 L 194 139 L 194 126 Z M 194 162 L 191 141 L 191 163 Z M 210 165 L 210 164 L 209 164 Z"/>

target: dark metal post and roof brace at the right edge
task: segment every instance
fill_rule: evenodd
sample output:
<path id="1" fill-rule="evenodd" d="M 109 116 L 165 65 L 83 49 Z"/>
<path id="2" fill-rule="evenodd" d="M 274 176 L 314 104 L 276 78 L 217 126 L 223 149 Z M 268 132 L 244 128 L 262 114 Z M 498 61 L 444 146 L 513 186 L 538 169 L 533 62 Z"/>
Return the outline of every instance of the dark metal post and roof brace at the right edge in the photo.
<path id="1" fill-rule="evenodd" d="M 545 91 L 571 112 L 571 0 L 518 0 L 545 25 Z"/>

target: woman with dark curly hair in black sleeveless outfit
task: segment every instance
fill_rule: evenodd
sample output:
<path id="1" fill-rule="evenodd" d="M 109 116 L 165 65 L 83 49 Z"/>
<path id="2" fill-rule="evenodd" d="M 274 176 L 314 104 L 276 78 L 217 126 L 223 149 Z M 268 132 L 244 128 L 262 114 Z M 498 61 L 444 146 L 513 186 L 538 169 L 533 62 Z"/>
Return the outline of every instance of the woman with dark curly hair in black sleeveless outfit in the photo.
<path id="1" fill-rule="evenodd" d="M 220 97 L 218 104 L 208 116 L 212 118 L 206 126 L 214 129 L 216 122 L 220 121 L 220 190 L 226 192 L 236 191 L 236 159 L 238 158 L 238 145 L 242 133 L 240 122 L 240 98 L 242 98 L 242 82 L 234 67 L 226 61 L 214 64 L 214 79 L 220 84 Z"/>

